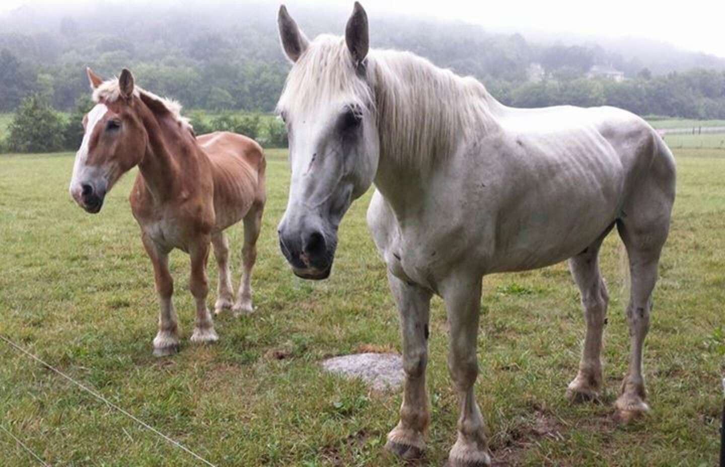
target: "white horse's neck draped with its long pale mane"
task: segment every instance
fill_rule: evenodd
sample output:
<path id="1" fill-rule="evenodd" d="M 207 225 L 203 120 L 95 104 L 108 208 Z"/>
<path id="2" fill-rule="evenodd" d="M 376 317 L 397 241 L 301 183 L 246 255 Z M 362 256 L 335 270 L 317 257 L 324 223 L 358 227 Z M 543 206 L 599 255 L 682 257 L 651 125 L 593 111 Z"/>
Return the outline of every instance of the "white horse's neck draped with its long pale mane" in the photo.
<path id="1" fill-rule="evenodd" d="M 497 131 L 502 106 L 473 78 L 460 78 L 420 57 L 382 52 L 375 61 L 376 186 L 399 211 L 395 204 L 402 209 L 425 194 L 430 178 L 446 172 L 466 144 Z"/>

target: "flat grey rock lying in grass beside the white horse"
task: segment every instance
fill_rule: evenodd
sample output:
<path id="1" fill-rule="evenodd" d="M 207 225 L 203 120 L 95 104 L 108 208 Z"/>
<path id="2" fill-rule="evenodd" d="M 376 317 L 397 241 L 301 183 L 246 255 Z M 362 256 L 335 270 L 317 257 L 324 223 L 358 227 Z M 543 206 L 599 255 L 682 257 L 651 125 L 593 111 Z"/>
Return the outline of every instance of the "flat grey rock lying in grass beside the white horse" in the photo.
<path id="1" fill-rule="evenodd" d="M 324 360 L 323 368 L 347 378 L 360 378 L 376 391 L 397 389 L 405 380 L 402 357 L 395 353 L 357 353 Z"/>

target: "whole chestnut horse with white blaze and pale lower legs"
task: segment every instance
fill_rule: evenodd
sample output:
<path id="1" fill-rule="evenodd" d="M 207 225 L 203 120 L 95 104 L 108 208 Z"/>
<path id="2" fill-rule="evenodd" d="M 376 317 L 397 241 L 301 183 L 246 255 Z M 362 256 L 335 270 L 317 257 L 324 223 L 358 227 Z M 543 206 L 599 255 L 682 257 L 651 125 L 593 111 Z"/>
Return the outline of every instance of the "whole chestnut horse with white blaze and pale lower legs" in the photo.
<path id="1" fill-rule="evenodd" d="M 85 134 L 75 155 L 70 194 L 87 212 L 99 212 L 120 176 L 138 165 L 130 204 L 159 294 L 154 355 L 178 351 L 168 265 L 175 248 L 191 257 L 189 286 L 196 301 L 191 342 L 215 342 L 218 336 L 207 309 L 210 243 L 219 268 L 215 313 L 252 313 L 250 283 L 265 207 L 262 148 L 235 133 L 194 136 L 181 117 L 181 106 L 135 86 L 128 70 L 107 81 L 90 69 L 87 73 L 96 106 L 83 118 Z M 244 220 L 243 273 L 234 302 L 224 230 L 239 220 Z"/>

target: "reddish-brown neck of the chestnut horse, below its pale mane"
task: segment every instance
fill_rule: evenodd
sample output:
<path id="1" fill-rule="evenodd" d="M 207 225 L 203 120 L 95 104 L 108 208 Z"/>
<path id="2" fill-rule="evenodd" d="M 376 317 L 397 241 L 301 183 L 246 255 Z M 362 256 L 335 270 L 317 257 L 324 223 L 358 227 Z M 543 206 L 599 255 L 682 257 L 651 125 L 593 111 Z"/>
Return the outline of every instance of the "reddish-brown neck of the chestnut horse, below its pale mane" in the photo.
<path id="1" fill-rule="evenodd" d="M 146 188 L 155 199 L 175 198 L 181 187 L 182 175 L 194 176 L 199 171 L 199 157 L 204 153 L 186 135 L 178 131 L 177 123 L 167 121 L 167 116 L 152 112 L 144 116 L 144 126 L 149 135 L 146 154 L 138 164 Z"/>

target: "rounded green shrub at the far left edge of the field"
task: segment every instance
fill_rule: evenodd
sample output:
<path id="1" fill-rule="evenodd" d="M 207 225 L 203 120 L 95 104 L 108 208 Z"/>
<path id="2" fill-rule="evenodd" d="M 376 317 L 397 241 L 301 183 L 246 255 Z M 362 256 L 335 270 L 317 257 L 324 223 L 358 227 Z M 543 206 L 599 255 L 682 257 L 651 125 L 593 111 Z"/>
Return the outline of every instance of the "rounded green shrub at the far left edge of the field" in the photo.
<path id="1" fill-rule="evenodd" d="M 7 144 L 15 152 L 52 152 L 63 149 L 65 122 L 37 94 L 20 102 L 9 126 Z"/>

